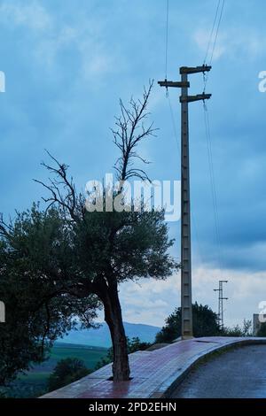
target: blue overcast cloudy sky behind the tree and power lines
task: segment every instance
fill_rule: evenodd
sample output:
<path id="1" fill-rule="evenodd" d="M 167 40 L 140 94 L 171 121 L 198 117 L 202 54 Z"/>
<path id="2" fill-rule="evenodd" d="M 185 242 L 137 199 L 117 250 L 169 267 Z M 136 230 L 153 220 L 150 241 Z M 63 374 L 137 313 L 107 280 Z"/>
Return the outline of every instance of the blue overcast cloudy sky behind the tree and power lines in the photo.
<path id="1" fill-rule="evenodd" d="M 214 0 L 169 0 L 168 79 L 181 65 L 202 65 Z M 79 189 L 112 172 L 110 127 L 118 100 L 138 97 L 155 80 L 149 110 L 158 137 L 142 155 L 155 180 L 179 180 L 180 160 L 164 89 L 165 0 L 4 0 L 0 2 L 0 211 L 14 216 L 40 200 L 44 149 L 70 166 Z M 218 261 L 202 103 L 190 104 L 193 300 L 216 309 L 218 280 L 228 279 L 225 323 L 251 319 L 266 300 L 266 4 L 225 1 L 207 93 L 221 236 Z M 191 94 L 203 90 L 191 76 Z M 179 126 L 179 91 L 170 99 Z M 197 235 L 194 224 L 196 223 Z M 179 256 L 180 222 L 169 223 Z M 161 325 L 180 305 L 180 274 L 121 287 L 124 319 Z"/>

